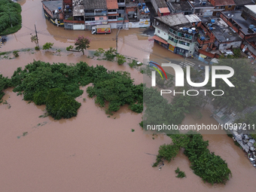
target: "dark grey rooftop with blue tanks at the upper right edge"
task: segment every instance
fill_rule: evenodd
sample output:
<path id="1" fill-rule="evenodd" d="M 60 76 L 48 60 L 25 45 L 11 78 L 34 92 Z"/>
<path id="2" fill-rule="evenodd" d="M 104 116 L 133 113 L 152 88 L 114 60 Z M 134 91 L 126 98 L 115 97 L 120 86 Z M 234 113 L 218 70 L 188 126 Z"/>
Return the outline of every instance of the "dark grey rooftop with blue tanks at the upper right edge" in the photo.
<path id="1" fill-rule="evenodd" d="M 233 21 L 235 21 L 241 27 L 240 30 L 245 35 L 254 33 L 251 29 L 248 29 L 248 27 L 250 25 L 256 26 L 256 21 L 252 20 L 251 17 L 248 17 L 247 20 L 245 20 L 241 16 L 242 11 L 222 11 L 222 14 L 224 14 L 228 19 L 232 19 Z"/>

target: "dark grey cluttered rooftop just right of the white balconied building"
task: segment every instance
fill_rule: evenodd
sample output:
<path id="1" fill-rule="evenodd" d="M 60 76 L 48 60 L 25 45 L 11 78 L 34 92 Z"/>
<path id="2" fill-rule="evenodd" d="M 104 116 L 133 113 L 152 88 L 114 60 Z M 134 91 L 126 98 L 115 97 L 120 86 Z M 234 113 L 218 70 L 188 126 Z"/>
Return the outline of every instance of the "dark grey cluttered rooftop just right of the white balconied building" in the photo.
<path id="1" fill-rule="evenodd" d="M 205 26 L 208 26 L 208 24 L 211 23 L 211 20 L 215 20 L 215 23 L 211 26 L 213 28 L 211 31 L 219 42 L 242 41 L 242 38 L 240 38 L 239 35 L 233 31 L 233 29 L 230 29 L 230 26 L 228 26 L 227 23 L 224 22 L 224 20 L 222 20 L 220 17 L 216 16 L 202 18 L 202 22 L 205 24 Z"/>

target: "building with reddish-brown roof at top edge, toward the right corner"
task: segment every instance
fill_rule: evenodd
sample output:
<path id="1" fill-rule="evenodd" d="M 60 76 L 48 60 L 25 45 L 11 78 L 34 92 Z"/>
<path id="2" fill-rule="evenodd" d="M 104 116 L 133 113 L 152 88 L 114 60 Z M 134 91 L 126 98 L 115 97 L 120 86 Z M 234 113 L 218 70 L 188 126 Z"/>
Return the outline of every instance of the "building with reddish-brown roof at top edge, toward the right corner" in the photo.
<path id="1" fill-rule="evenodd" d="M 213 15 L 220 15 L 220 11 L 233 11 L 236 8 L 236 4 L 233 0 L 209 0 L 209 2 L 215 6 Z"/>

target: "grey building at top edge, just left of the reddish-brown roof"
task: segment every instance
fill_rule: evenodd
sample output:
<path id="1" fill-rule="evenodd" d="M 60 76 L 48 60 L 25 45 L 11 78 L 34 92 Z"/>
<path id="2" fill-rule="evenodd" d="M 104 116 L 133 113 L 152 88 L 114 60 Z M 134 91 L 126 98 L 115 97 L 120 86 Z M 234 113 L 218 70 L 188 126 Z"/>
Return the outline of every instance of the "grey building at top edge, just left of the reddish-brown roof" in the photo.
<path id="1" fill-rule="evenodd" d="M 190 3 L 194 7 L 194 14 L 198 17 L 211 17 L 215 9 L 207 0 L 194 0 Z"/>

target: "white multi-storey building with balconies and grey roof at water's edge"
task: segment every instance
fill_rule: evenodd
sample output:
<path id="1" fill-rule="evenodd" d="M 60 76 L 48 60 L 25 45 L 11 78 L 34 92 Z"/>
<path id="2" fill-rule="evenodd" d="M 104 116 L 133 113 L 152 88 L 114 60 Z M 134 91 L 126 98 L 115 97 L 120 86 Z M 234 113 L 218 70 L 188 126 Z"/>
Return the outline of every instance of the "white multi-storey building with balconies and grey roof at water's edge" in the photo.
<path id="1" fill-rule="evenodd" d="M 197 26 L 201 20 L 197 15 L 170 14 L 156 17 L 154 41 L 173 53 L 191 56 L 197 42 Z"/>

